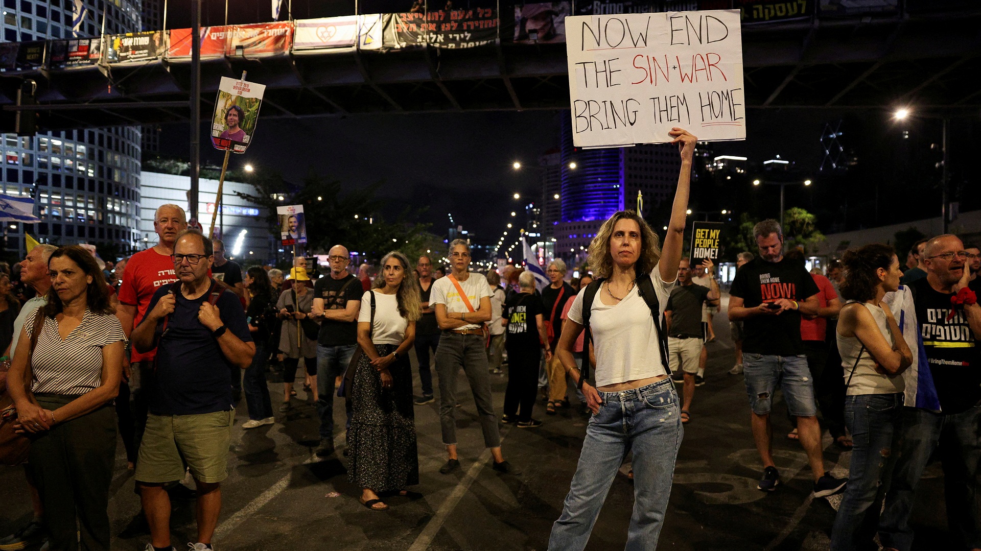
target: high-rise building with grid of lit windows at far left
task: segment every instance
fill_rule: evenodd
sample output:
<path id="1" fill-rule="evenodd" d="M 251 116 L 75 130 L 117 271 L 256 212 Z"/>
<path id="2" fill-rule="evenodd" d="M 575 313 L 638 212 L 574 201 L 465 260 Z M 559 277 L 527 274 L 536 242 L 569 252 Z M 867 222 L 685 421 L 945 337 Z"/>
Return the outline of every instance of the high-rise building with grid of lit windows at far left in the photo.
<path id="1" fill-rule="evenodd" d="M 140 29 L 133 0 L 83 0 L 78 36 Z M 4 0 L 3 40 L 72 38 L 72 0 Z M 107 11 L 103 14 L 102 7 Z M 24 233 L 41 242 L 87 242 L 126 255 L 139 233 L 139 126 L 114 126 L 3 135 L 2 189 L 33 197 L 41 223 L 4 227 L 6 251 L 24 251 Z M 108 259 L 107 259 L 108 260 Z"/>

